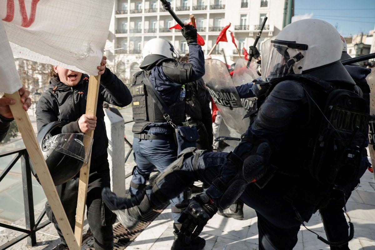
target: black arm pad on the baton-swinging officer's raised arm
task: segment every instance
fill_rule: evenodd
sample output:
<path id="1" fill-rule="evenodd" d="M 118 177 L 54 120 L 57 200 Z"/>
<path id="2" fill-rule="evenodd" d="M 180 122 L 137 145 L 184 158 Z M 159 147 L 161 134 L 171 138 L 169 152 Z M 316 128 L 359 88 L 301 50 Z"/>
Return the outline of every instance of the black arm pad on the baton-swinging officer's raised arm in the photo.
<path id="1" fill-rule="evenodd" d="M 186 84 L 191 82 L 193 67 L 191 63 L 168 61 L 162 64 L 164 74 L 174 82 Z"/>

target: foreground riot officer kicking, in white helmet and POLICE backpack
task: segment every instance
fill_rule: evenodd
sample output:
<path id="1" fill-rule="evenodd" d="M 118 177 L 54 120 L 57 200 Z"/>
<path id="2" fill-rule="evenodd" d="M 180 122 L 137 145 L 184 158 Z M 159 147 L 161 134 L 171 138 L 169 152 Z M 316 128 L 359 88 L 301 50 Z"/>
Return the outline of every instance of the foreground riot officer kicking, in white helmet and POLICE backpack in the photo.
<path id="1" fill-rule="evenodd" d="M 186 149 L 147 187 L 147 195 L 137 199 L 120 198 L 109 189 L 104 190 L 106 204 L 113 211 L 126 214 L 120 220 L 136 221 L 129 211 L 147 211 L 177 195 L 193 180 L 201 180 L 211 186 L 192 198 L 179 219 L 180 232 L 186 237 L 197 237 L 218 207 L 226 208 L 239 199 L 257 212 L 260 250 L 293 249 L 300 225 L 327 204 L 332 191 L 332 184 L 324 180 L 332 173 L 317 167 L 326 163 L 329 166 L 332 160 L 348 160 L 335 155 L 325 155 L 321 161 L 315 159 L 318 147 L 332 145 L 325 141 L 326 137 L 321 138 L 319 126 L 329 121 L 323 112 L 330 100 L 328 93 L 338 90 L 334 93 L 357 94 L 353 79 L 340 61 L 340 35 L 326 21 L 293 22 L 280 31 L 271 45 L 269 60 L 262 60 L 267 61 L 262 75 L 271 87 L 257 96 L 260 108 L 254 112 L 242 142 L 231 153 Z M 344 124 L 337 122 L 335 126 L 335 133 L 341 133 L 339 128 Z M 359 128 L 359 148 L 366 147 L 367 132 L 362 131 L 365 127 Z M 350 134 L 357 136 L 359 130 Z M 338 146 L 336 153 L 345 153 L 347 148 L 339 143 L 335 140 L 332 148 Z M 348 143 L 350 150 L 357 146 L 353 143 Z M 350 160 L 355 159 L 358 167 L 360 155 L 352 152 L 347 157 L 353 157 Z"/>

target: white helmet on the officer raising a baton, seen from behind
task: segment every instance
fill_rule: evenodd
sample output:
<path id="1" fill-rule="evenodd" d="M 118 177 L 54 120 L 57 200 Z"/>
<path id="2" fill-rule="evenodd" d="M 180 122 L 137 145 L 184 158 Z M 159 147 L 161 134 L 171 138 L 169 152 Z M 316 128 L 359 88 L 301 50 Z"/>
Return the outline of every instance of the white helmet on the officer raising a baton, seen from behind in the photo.
<path id="1" fill-rule="evenodd" d="M 141 69 L 145 69 L 154 62 L 162 58 L 177 59 L 179 54 L 174 49 L 172 43 L 161 38 L 153 38 L 149 40 L 143 47 L 143 61 L 139 66 Z"/>

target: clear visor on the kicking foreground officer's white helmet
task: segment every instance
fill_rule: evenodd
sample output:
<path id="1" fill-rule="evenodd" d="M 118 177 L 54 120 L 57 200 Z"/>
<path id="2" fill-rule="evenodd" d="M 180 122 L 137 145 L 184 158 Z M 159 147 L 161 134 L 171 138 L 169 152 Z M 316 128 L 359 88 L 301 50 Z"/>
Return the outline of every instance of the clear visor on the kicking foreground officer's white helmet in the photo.
<path id="1" fill-rule="evenodd" d="M 272 40 L 271 43 L 266 68 L 262 70 L 262 78 L 264 77 L 265 81 L 272 81 L 287 75 L 301 74 L 308 45 L 277 39 Z"/>

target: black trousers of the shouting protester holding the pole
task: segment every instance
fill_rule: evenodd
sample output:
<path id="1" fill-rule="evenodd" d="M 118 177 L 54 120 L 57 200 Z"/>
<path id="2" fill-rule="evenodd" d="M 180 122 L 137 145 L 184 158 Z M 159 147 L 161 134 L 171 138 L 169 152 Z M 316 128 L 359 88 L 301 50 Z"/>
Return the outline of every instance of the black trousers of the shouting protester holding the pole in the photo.
<path id="1" fill-rule="evenodd" d="M 61 203 L 64 207 L 66 216 L 74 231 L 75 214 L 78 199 L 78 183 L 79 178 L 75 177 L 72 180 L 62 185 L 56 186 L 57 193 L 60 196 Z M 115 214 L 109 210 L 104 204 L 101 193 L 103 187 L 110 187 L 110 173 L 93 172 L 89 176 L 89 184 L 87 187 L 87 221 L 89 222 L 90 230 L 94 235 L 95 250 L 112 250 L 113 249 L 113 232 L 112 225 L 116 220 Z M 58 226 L 55 216 L 52 213 L 48 202 L 45 204 L 46 214 L 48 219 L 54 224 L 62 244 L 66 245 L 66 241 Z"/>

